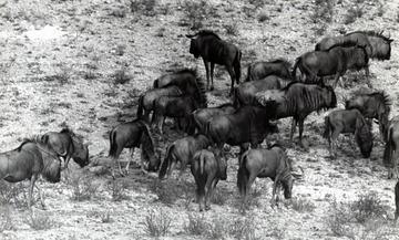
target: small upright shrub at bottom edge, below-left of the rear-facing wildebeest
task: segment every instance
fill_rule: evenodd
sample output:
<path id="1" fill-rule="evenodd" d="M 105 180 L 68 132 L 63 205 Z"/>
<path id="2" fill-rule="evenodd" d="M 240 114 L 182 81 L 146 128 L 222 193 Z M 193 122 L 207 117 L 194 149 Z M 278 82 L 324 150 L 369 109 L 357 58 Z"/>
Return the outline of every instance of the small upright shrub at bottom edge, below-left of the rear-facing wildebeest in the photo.
<path id="1" fill-rule="evenodd" d="M 161 237 L 166 236 L 168 229 L 171 228 L 172 218 L 161 211 L 158 215 L 155 215 L 154 211 L 151 211 L 149 216 L 145 217 L 145 227 L 146 231 L 151 237 Z"/>

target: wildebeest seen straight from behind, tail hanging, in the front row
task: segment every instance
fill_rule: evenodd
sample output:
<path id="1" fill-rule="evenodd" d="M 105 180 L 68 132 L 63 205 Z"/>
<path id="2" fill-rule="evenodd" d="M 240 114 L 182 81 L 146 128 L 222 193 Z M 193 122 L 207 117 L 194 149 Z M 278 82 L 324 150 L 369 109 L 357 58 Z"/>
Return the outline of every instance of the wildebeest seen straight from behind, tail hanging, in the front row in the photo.
<path id="1" fill-rule="evenodd" d="M 221 152 L 198 150 L 195 153 L 191 171 L 197 186 L 200 211 L 211 209 L 213 192 L 219 179 L 227 179 L 227 161 Z"/>

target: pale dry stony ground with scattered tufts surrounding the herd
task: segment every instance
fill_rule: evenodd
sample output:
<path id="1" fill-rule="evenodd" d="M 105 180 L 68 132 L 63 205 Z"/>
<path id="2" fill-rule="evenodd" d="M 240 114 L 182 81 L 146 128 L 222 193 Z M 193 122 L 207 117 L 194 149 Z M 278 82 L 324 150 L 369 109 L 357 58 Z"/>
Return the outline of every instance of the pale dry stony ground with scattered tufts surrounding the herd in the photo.
<path id="1" fill-rule="evenodd" d="M 218 184 L 212 210 L 203 213 L 197 212 L 188 170 L 181 180 L 168 182 L 160 182 L 156 174 L 143 175 L 136 166 L 124 178 L 111 177 L 108 134 L 135 117 L 137 96 L 157 76 L 176 69 L 197 67 L 205 77 L 203 63 L 188 53 L 185 36 L 198 27 L 242 49 L 243 77 L 250 62 L 276 58 L 294 62 L 323 36 L 383 30 L 395 39 L 391 59 L 371 61 L 369 81 L 372 91 L 390 95 L 390 116 L 397 115 L 399 2 L 316 2 L 334 4 L 0 0 L 0 152 L 18 147 L 23 137 L 68 125 L 85 138 L 91 156 L 91 165 L 83 169 L 71 164 L 61 182 L 38 182 L 45 192 L 45 209 L 39 204 L 27 209 L 28 182 L 0 182 L 0 239 L 145 239 L 152 238 L 149 226 L 160 227 L 163 222 L 156 220 L 168 219 L 163 237 L 168 239 L 399 239 L 392 226 L 396 180 L 387 179 L 377 125 L 369 159 L 354 153 L 341 136 L 332 160 L 321 137 L 327 112 L 306 119 L 308 149 L 288 146 L 289 119 L 282 119 L 280 134 L 272 136 L 287 144 L 288 156 L 304 169 L 293 199 L 276 208 L 269 205 L 272 181 L 257 179 L 249 210 L 241 211 L 233 157 L 227 181 Z M 211 106 L 229 101 L 228 74 L 217 66 L 215 75 Z M 354 92 L 369 91 L 362 73 L 348 76 L 345 86 L 336 88 L 340 108 Z M 160 145 L 163 154 L 168 143 L 183 136 L 171 127 L 167 122 L 167 140 Z M 121 159 L 127 157 L 126 150 Z M 134 158 L 139 163 L 140 154 Z M 368 199 L 368 209 L 376 207 L 372 213 L 378 215 L 357 220 L 352 212 L 359 210 L 356 205 L 362 206 L 361 199 Z M 195 229 L 202 234 L 195 234 Z"/>

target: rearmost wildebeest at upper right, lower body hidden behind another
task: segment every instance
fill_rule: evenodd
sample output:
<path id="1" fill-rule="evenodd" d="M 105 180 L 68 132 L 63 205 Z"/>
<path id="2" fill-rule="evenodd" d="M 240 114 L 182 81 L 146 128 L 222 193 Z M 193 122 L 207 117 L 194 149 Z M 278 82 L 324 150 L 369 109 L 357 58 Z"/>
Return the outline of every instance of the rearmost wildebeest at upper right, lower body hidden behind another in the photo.
<path id="1" fill-rule="evenodd" d="M 382 35 L 382 32 L 356 31 L 340 36 L 325 38 L 316 44 L 316 51 L 323 51 L 332 45 L 345 44 L 346 42 L 358 42 L 366 45 L 366 52 L 370 59 L 389 60 L 391 55 L 390 36 Z"/>

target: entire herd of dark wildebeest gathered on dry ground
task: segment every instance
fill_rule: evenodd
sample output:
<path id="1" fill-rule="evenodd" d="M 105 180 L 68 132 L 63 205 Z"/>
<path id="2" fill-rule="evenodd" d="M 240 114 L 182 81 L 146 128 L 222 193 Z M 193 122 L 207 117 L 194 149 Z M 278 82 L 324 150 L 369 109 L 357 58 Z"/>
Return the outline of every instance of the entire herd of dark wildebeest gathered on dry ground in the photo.
<path id="1" fill-rule="evenodd" d="M 284 58 L 252 63 L 245 81 L 239 83 L 242 52 L 236 45 L 223 41 L 209 30 L 186 36 L 191 39 L 190 53 L 204 61 L 206 85 L 194 69 L 174 71 L 156 79 L 153 88 L 139 97 L 136 119 L 122 123 L 110 132 L 109 156 L 117 163 L 122 176 L 129 174 L 135 148 L 141 148 L 142 170 L 158 170 L 160 179 L 171 178 L 176 164 L 181 166 L 180 176 L 190 165 L 201 211 L 209 209 L 214 188 L 219 179 L 227 178 L 225 144 L 241 147 L 237 187 L 244 199 L 256 177 L 269 177 L 274 181 L 272 205 L 276 204 L 276 190 L 280 187 L 285 198 L 290 198 L 295 176 L 286 150 L 280 144 L 267 144 L 266 148 L 259 145 L 268 134 L 278 133 L 277 119 L 293 117 L 289 143 L 299 124 L 299 145 L 307 147 L 303 143 L 305 118 L 313 112 L 335 108 L 335 88 L 338 82 L 342 83 L 342 75 L 348 70 L 365 69 L 368 76 L 369 60 L 389 60 L 393 41 L 375 31 L 325 38 L 316 44 L 315 51 L 297 58 L 294 66 Z M 233 101 L 208 107 L 206 91 L 214 88 L 215 64 L 224 65 L 231 76 L 229 96 Z M 331 85 L 326 83 L 328 76 L 334 76 Z M 349 133 L 361 155 L 370 157 L 375 121 L 379 125 L 380 142 L 385 143 L 383 164 L 388 167 L 388 177 L 398 178 L 399 116 L 389 119 L 390 105 L 391 101 L 383 91 L 370 91 L 347 97 L 345 109 L 330 112 L 325 117 L 323 136 L 329 143 L 331 158 L 336 157 L 340 133 Z M 168 145 L 162 163 L 153 134 L 158 133 L 165 142 L 165 117 L 174 118 L 176 128 L 184 131 L 186 136 Z M 125 170 L 119 161 L 124 148 L 131 152 Z M 30 179 L 30 207 L 39 175 L 51 182 L 60 181 L 60 157 L 64 167 L 71 158 L 81 167 L 89 164 L 88 146 L 70 128 L 24 139 L 17 149 L 0 154 L 0 177 L 10 182 Z M 112 177 L 115 177 L 112 168 Z M 399 184 L 395 194 L 397 219 Z"/>

